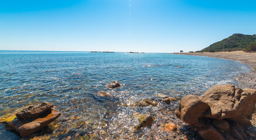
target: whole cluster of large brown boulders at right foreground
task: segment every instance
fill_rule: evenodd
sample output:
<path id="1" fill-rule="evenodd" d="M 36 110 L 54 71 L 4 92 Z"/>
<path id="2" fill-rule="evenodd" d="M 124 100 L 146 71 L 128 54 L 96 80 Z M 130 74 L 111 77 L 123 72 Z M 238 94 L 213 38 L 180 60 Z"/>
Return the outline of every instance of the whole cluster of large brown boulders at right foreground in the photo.
<path id="1" fill-rule="evenodd" d="M 194 126 L 204 139 L 247 139 L 251 115 L 256 112 L 256 89 L 218 85 L 200 97 L 180 101 L 176 116 Z M 253 136 L 253 135 L 252 135 Z"/>

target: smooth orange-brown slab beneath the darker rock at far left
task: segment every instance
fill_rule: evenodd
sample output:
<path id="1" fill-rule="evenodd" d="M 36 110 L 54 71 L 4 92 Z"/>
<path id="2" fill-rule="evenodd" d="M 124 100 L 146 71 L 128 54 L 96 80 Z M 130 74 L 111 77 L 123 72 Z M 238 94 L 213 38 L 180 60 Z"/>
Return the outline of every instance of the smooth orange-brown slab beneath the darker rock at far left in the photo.
<path id="1" fill-rule="evenodd" d="M 46 115 L 45 117 L 39 117 L 29 121 L 19 120 L 18 118 L 15 118 L 13 121 L 8 122 L 8 124 L 6 125 L 8 129 L 15 129 L 16 131 L 18 131 L 21 136 L 29 136 L 34 132 L 38 131 L 39 129 L 50 124 L 50 122 L 58 118 L 60 114 L 60 112 L 57 112 L 55 109 L 53 109 L 51 113 Z"/>

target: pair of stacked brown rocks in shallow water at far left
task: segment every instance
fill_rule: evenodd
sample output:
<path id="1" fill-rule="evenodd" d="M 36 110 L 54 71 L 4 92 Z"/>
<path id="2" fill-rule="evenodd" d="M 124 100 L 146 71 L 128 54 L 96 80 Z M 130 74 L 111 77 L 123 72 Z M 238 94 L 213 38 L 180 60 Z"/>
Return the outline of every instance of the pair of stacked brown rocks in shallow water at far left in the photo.
<path id="1" fill-rule="evenodd" d="M 52 103 L 42 103 L 38 106 L 29 106 L 15 115 L 9 115 L 11 121 L 6 122 L 6 128 L 15 129 L 21 136 L 29 136 L 39 129 L 46 127 L 50 122 L 60 116 L 60 112 Z M 9 120 L 6 118 L 6 120 Z"/>

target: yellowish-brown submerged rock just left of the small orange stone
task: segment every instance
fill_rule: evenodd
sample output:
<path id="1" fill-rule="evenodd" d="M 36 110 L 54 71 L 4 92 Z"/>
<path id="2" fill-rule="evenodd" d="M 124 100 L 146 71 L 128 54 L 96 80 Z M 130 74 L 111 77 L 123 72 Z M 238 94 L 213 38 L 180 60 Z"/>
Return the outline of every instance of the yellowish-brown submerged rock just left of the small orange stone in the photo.
<path id="1" fill-rule="evenodd" d="M 139 124 L 137 124 L 134 128 L 140 129 L 142 127 L 149 127 L 153 124 L 153 117 L 150 114 L 137 114 L 134 115 L 135 118 L 139 120 Z"/>

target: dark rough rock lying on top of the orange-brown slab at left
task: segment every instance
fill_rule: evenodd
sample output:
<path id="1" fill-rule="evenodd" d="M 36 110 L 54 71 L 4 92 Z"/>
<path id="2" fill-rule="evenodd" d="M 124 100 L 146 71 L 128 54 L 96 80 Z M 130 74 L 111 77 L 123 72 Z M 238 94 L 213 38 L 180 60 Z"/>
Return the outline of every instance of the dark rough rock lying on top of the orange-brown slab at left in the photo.
<path id="1" fill-rule="evenodd" d="M 23 120 L 26 118 L 36 118 L 51 110 L 53 106 L 53 103 L 48 102 L 44 102 L 39 106 L 29 106 L 28 108 L 23 109 L 21 112 L 16 113 L 16 116 Z"/>

